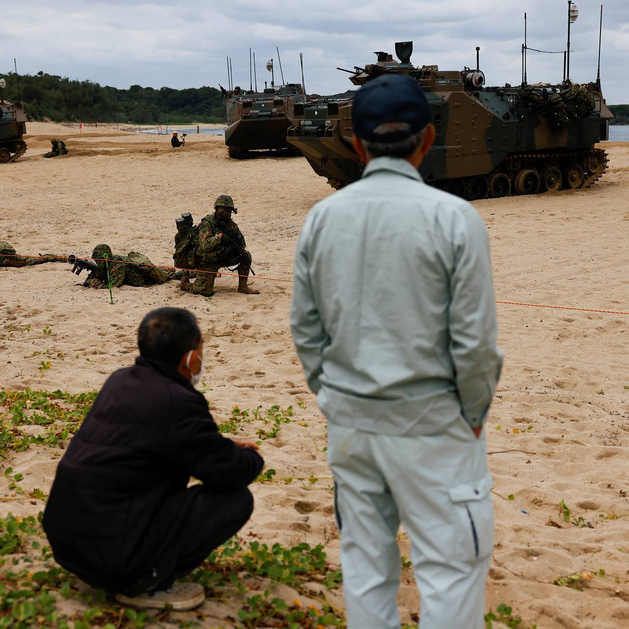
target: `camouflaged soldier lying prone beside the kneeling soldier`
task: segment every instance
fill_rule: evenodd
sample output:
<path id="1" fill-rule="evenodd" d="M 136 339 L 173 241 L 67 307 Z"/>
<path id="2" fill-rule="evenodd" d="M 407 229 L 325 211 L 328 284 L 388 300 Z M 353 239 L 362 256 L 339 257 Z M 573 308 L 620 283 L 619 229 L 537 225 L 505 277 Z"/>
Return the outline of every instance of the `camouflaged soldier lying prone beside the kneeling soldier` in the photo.
<path id="1" fill-rule="evenodd" d="M 96 271 L 92 271 L 83 286 L 92 288 L 108 288 L 105 254 L 111 263 L 109 264 L 109 279 L 111 286 L 118 287 L 123 284 L 128 286 L 151 286 L 152 284 L 164 284 L 170 279 L 180 279 L 181 274 L 172 270 L 159 269 L 142 253 L 130 251 L 128 255 L 112 255 L 109 245 L 96 245 L 92 252 L 92 258 L 98 265 Z"/>

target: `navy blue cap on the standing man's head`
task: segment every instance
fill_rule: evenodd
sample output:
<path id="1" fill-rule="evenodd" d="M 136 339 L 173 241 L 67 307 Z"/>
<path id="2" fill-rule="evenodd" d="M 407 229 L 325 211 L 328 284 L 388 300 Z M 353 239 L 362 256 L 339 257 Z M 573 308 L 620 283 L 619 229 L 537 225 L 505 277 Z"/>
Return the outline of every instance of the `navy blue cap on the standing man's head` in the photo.
<path id="1" fill-rule="evenodd" d="M 384 74 L 362 86 L 353 99 L 354 133 L 368 142 L 398 142 L 419 133 L 432 120 L 430 105 L 415 79 Z M 374 134 L 387 122 L 408 123 L 408 130 Z"/>

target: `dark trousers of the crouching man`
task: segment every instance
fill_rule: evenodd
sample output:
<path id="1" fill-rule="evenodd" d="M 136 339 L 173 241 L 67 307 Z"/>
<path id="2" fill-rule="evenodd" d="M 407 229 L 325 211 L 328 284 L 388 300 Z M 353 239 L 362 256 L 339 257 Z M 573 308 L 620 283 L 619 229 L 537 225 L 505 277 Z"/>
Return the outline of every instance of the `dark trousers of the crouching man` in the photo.
<path id="1" fill-rule="evenodd" d="M 140 551 L 145 574 L 121 587 L 121 593 L 136 596 L 167 589 L 235 535 L 252 512 L 253 496 L 246 487 L 218 494 L 197 485 L 173 494 L 155 517 Z"/>

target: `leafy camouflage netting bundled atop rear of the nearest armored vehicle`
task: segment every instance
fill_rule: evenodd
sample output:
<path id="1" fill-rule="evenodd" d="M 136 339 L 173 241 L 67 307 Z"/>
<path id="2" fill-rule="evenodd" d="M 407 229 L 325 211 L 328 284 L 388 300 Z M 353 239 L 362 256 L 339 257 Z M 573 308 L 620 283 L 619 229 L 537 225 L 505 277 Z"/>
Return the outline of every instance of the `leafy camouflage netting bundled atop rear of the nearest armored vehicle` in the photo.
<path id="1" fill-rule="evenodd" d="M 545 94 L 533 87 L 529 87 L 526 92 L 531 111 L 543 114 L 550 128 L 555 130 L 565 129 L 572 122 L 585 118 L 595 107 L 587 87 L 578 83 L 573 83 L 559 93 Z"/>

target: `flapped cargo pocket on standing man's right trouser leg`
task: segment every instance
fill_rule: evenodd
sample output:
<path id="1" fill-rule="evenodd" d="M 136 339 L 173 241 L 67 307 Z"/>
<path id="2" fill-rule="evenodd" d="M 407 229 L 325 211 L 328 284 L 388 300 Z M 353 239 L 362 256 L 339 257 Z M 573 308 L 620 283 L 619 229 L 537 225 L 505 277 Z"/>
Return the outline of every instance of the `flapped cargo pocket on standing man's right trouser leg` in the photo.
<path id="1" fill-rule="evenodd" d="M 450 500 L 459 513 L 463 547 L 469 550 L 464 559 L 486 559 L 494 547 L 494 508 L 489 494 L 493 480 L 487 472 L 477 481 L 465 482 L 448 489 Z"/>

